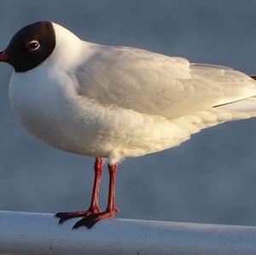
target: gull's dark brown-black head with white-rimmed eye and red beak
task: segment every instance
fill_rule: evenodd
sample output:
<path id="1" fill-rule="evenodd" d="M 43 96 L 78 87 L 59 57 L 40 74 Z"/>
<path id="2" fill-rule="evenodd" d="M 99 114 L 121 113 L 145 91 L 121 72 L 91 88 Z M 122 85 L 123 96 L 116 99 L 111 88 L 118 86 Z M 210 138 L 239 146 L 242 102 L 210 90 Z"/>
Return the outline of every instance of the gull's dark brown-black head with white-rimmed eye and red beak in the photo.
<path id="1" fill-rule="evenodd" d="M 16 32 L 7 49 L 0 52 L 0 61 L 9 63 L 15 72 L 26 72 L 38 67 L 54 49 L 54 27 L 49 21 L 40 21 Z"/>

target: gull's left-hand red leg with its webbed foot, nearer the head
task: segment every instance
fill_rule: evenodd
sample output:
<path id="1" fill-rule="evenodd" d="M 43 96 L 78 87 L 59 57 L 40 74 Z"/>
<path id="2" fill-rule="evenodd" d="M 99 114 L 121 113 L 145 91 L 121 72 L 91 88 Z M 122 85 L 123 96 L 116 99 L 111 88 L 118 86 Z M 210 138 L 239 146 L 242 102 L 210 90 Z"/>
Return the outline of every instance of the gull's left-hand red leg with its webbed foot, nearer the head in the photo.
<path id="1" fill-rule="evenodd" d="M 93 213 L 101 212 L 99 203 L 98 203 L 98 198 L 99 198 L 102 170 L 103 170 L 103 159 L 96 158 L 96 161 L 94 164 L 95 179 L 94 179 L 94 184 L 93 184 L 93 189 L 91 194 L 90 207 L 88 211 L 58 212 L 55 214 L 55 217 L 60 218 L 59 223 L 64 223 L 65 221 L 67 221 L 67 219 L 70 219 L 73 217 L 85 217 Z"/>

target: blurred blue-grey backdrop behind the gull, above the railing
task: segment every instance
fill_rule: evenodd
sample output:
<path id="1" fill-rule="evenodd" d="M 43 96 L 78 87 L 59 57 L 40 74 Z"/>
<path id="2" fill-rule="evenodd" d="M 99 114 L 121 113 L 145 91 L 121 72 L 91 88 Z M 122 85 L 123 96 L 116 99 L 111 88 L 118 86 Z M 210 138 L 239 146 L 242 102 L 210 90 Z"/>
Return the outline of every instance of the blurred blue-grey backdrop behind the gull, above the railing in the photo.
<path id="1" fill-rule="evenodd" d="M 1 0 L 0 49 L 18 29 L 38 20 L 53 20 L 96 43 L 256 73 L 253 0 Z M 26 133 L 9 106 L 12 72 L 0 65 L 0 210 L 87 209 L 94 160 Z M 256 225 L 256 119 L 218 125 L 177 148 L 125 159 L 116 194 L 118 217 Z"/>

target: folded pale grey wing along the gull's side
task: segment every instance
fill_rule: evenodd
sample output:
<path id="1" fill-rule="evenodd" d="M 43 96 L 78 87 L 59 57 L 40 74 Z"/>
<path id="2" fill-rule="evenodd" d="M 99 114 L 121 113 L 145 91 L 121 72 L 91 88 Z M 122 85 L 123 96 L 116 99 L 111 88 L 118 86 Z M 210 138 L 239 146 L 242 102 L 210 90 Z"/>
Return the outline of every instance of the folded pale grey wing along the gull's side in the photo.
<path id="1" fill-rule="evenodd" d="M 81 96 L 167 119 L 256 95 L 242 72 L 128 47 L 99 46 L 76 75 Z"/>

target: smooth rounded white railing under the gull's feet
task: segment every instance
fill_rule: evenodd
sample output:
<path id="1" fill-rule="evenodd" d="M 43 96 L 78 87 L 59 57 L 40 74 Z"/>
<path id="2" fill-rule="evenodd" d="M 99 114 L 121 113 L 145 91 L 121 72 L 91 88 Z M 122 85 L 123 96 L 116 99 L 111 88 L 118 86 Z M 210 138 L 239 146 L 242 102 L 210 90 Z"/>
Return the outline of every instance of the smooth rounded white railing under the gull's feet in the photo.
<path id="1" fill-rule="evenodd" d="M 72 230 L 52 214 L 0 211 L 0 254 L 255 255 L 256 227 L 103 220 Z"/>

